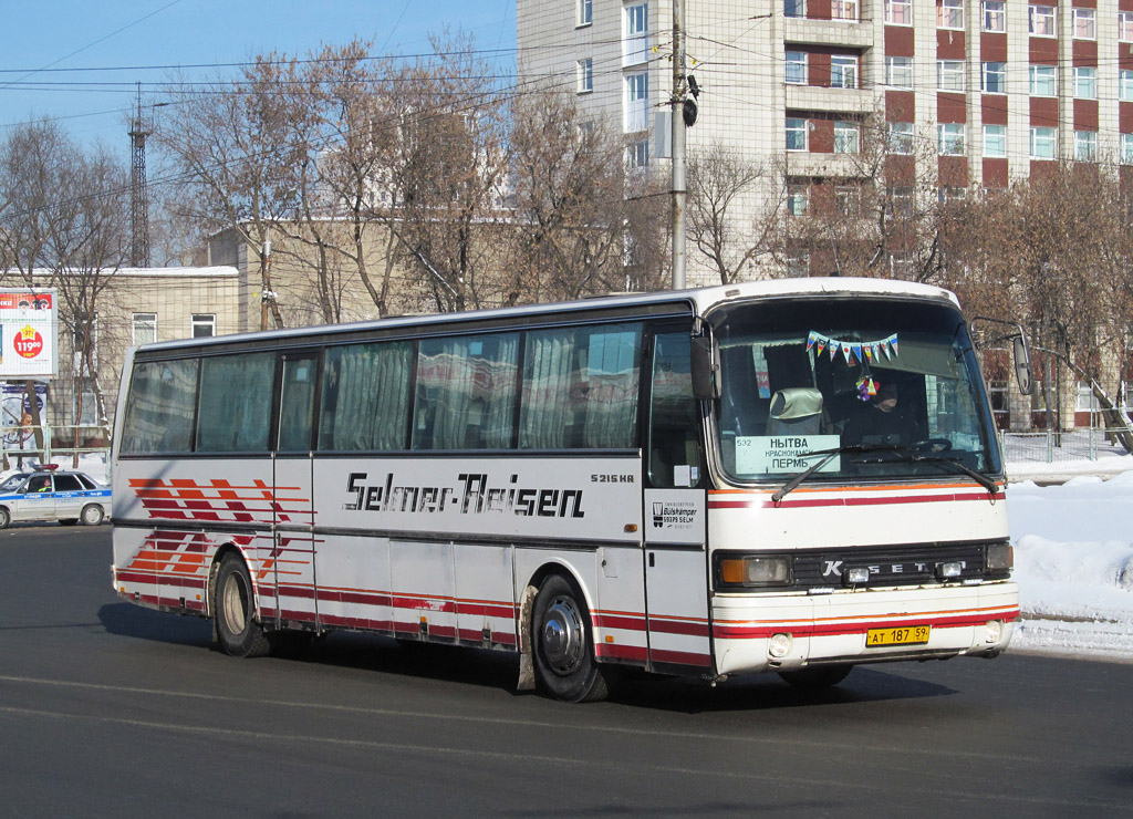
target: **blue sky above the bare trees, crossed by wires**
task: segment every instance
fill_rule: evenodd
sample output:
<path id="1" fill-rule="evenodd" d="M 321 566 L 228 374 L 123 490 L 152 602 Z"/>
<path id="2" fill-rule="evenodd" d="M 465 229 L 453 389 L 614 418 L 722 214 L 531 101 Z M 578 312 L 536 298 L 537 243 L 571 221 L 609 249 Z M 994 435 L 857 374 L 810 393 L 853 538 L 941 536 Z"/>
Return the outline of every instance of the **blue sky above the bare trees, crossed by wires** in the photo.
<path id="1" fill-rule="evenodd" d="M 156 89 L 182 66 L 201 78 L 215 66 L 269 51 L 304 56 L 353 37 L 375 53 L 427 51 L 444 26 L 516 65 L 516 0 L 6 0 L 0 51 L 0 136 L 51 118 L 84 144 L 119 146 L 137 83 Z M 495 53 L 487 54 L 493 58 Z M 232 70 L 232 69 L 222 69 Z M 160 114 L 160 109 L 157 110 Z"/>

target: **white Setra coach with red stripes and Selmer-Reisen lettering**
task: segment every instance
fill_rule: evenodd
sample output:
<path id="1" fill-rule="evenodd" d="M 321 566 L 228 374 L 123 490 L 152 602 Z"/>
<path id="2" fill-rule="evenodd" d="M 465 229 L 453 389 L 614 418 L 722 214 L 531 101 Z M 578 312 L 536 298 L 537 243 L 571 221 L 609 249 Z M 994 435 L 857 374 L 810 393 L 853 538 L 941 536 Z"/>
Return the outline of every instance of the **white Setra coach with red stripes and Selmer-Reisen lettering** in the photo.
<path id="1" fill-rule="evenodd" d="M 517 652 L 573 701 L 625 666 L 829 685 L 1007 647 L 1004 490 L 968 324 L 926 285 L 193 339 L 127 357 L 113 583 L 237 656 L 346 629 Z"/>

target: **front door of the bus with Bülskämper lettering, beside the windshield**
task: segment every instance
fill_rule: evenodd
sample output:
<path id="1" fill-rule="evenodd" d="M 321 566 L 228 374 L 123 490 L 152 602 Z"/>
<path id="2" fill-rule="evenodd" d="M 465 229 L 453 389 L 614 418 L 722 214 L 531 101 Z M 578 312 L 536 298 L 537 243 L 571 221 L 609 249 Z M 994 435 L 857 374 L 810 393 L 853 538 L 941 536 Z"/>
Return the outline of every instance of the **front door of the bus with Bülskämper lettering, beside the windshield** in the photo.
<path id="1" fill-rule="evenodd" d="M 649 666 L 684 674 L 712 667 L 708 476 L 689 359 L 688 330 L 654 338 L 644 497 Z"/>

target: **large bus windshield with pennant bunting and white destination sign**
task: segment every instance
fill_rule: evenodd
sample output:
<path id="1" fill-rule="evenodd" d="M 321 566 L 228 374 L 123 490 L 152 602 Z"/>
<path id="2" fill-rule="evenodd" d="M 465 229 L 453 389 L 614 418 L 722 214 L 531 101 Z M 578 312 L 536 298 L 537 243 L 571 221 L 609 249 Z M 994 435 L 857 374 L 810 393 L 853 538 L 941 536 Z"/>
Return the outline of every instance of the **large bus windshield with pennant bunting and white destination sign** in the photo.
<path id="1" fill-rule="evenodd" d="M 736 304 L 709 318 L 727 479 L 978 472 L 986 484 L 982 474 L 1000 471 L 979 366 L 951 305 L 827 296 Z"/>

